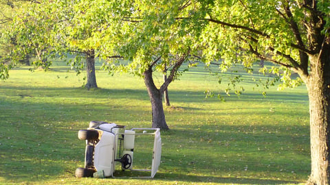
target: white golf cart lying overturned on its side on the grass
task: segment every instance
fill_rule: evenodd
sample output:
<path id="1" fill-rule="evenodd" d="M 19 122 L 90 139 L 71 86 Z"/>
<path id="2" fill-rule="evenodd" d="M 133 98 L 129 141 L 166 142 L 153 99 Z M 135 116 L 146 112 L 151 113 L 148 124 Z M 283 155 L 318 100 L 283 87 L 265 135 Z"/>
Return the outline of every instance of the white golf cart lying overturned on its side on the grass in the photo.
<path id="1" fill-rule="evenodd" d="M 153 145 L 151 158 L 143 159 L 151 160 L 151 167 L 146 167 L 146 169 L 133 168 L 133 153 L 135 152 L 135 138 L 137 136 L 154 136 L 153 143 L 150 143 L 151 146 Z M 150 172 L 150 176 L 139 175 L 138 177 L 153 178 L 157 173 L 162 153 L 159 129 L 133 128 L 125 130 L 124 126 L 115 123 L 91 121 L 87 130 L 79 130 L 78 138 L 86 140 L 86 150 L 85 168 L 76 169 L 76 177 L 115 177 L 115 171 L 118 169 L 120 169 L 119 171 Z"/>

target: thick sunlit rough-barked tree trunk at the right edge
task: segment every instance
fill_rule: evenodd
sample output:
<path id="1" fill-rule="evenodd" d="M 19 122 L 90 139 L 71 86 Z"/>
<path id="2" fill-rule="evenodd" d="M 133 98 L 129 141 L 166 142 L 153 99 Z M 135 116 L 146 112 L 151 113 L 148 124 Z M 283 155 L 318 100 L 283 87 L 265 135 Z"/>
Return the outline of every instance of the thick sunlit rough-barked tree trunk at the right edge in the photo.
<path id="1" fill-rule="evenodd" d="M 327 49 L 327 51 L 330 51 Z M 330 184 L 330 53 L 311 56 L 307 80 L 311 137 L 311 175 L 307 184 Z"/>

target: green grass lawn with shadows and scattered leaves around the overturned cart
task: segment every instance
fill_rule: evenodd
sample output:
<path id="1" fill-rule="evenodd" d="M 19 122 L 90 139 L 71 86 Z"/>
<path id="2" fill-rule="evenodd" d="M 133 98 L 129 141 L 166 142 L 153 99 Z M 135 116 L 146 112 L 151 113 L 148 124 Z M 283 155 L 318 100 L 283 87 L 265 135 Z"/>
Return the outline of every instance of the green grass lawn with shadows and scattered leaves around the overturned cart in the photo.
<path id="1" fill-rule="evenodd" d="M 81 88 L 83 76 L 61 66 L 10 71 L 0 82 L 0 184 L 299 184 L 310 173 L 305 87 L 267 90 L 246 79 L 241 97 L 206 99 L 224 85 L 192 69 L 169 86 L 162 163 L 154 179 L 77 179 L 89 121 L 151 127 L 142 79 L 98 71 L 100 89 Z M 156 76 L 157 84 L 162 77 Z M 223 83 L 225 84 L 225 83 Z M 262 90 L 262 89 L 261 89 Z"/>

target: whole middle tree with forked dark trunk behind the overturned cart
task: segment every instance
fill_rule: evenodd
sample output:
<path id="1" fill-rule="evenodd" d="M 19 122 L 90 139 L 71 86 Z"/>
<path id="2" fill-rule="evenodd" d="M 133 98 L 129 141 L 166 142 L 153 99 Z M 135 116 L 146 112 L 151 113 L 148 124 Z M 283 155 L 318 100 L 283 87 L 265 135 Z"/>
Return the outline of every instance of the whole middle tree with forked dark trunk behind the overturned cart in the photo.
<path id="1" fill-rule="evenodd" d="M 120 64 L 109 61 L 107 69 L 143 77 L 151 99 L 152 127 L 168 130 L 162 104 L 164 91 L 179 77 L 179 67 L 199 50 L 195 45 L 195 38 L 198 38 L 195 29 L 186 27 L 190 21 L 175 21 L 175 17 L 187 15 L 189 10 L 184 10 L 181 1 L 162 0 L 108 1 L 98 6 L 111 7 L 105 8 L 104 14 L 110 16 L 107 25 L 102 26 L 106 29 L 100 33 L 104 53 L 114 52 L 125 60 Z M 100 12 L 102 10 L 97 13 Z M 111 56 L 109 53 L 106 55 Z M 168 77 L 159 87 L 153 80 L 155 71 L 168 72 Z"/>

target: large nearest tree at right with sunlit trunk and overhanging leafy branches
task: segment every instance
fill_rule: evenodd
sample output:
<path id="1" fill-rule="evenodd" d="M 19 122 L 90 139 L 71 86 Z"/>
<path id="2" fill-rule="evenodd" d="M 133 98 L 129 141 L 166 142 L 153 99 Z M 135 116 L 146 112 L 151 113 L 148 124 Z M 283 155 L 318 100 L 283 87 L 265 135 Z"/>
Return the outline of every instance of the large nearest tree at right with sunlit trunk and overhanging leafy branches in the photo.
<path id="1" fill-rule="evenodd" d="M 259 58 L 283 66 L 283 73 L 270 69 L 281 75 L 283 86 L 305 82 L 311 130 L 311 175 L 307 184 L 330 184 L 330 2 L 217 0 L 201 3 L 204 7 L 191 14 L 206 13 L 200 17 L 208 22 L 201 40 L 206 46 L 204 61 L 221 58 L 221 67 L 225 69 L 234 62 L 251 66 Z M 300 77 L 290 79 L 290 70 Z"/>

